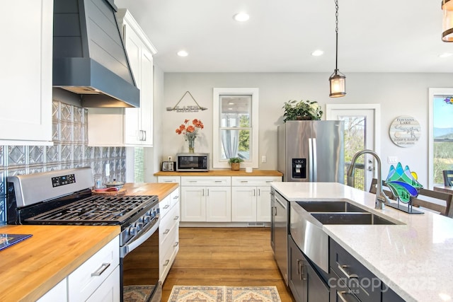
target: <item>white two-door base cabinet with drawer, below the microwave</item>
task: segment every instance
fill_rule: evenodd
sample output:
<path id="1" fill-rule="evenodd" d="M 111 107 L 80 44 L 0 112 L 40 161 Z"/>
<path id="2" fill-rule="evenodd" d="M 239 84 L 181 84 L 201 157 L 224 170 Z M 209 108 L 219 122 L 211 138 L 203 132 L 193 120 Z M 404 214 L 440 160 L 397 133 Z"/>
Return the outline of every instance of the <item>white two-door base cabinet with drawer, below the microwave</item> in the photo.
<path id="1" fill-rule="evenodd" d="M 231 221 L 231 178 L 182 176 L 181 221 Z"/>

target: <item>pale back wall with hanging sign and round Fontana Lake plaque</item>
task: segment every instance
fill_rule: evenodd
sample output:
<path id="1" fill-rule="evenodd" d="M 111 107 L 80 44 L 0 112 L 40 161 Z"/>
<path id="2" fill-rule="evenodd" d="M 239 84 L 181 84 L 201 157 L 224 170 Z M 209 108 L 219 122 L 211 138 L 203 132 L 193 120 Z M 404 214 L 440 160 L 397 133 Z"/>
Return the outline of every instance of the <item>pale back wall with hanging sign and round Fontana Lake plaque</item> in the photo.
<path id="1" fill-rule="evenodd" d="M 397 156 L 403 165 L 418 173 L 420 182 L 428 186 L 428 88 L 453 86 L 453 74 L 346 74 L 347 95 L 343 98 L 328 97 L 330 74 L 313 73 L 166 73 L 164 74 L 164 103 L 155 120 L 154 133 L 161 133 L 158 161 L 178 152 L 187 152 L 188 146 L 175 129 L 183 120 L 200 119 L 205 129 L 195 141 L 195 152 L 212 153 L 212 88 L 259 88 L 259 156 L 267 156 L 267 163 L 260 163 L 261 170 L 277 169 L 277 124 L 282 123 L 282 106 L 287 100 L 316 100 L 326 108 L 326 103 L 380 103 L 381 151 L 383 177 L 389 164 L 387 156 Z M 200 105 L 208 110 L 193 113 L 168 112 L 190 91 Z M 186 96 L 180 105 L 193 105 Z M 422 127 L 420 140 L 411 148 L 396 146 L 389 139 L 389 126 L 399 115 L 415 117 Z M 324 115 L 325 118 L 325 115 Z M 155 146 L 157 146 L 155 144 Z"/>

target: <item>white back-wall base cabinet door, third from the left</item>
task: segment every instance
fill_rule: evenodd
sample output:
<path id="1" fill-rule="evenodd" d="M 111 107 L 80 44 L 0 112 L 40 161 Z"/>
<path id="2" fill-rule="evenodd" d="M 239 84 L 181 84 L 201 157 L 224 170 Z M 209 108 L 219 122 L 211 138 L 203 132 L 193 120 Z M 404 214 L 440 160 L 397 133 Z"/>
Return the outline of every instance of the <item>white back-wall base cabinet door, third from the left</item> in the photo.
<path id="1" fill-rule="evenodd" d="M 256 187 L 231 187 L 231 221 L 256 221 Z"/>

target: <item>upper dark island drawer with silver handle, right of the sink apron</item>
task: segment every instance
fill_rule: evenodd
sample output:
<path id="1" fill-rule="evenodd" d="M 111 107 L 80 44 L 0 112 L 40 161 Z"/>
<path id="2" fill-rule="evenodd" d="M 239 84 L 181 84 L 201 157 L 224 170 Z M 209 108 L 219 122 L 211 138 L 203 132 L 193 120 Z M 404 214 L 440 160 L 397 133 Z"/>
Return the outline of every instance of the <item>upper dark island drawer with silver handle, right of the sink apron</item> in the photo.
<path id="1" fill-rule="evenodd" d="M 329 238 L 330 267 L 360 301 L 381 301 L 382 282 L 335 240 Z"/>

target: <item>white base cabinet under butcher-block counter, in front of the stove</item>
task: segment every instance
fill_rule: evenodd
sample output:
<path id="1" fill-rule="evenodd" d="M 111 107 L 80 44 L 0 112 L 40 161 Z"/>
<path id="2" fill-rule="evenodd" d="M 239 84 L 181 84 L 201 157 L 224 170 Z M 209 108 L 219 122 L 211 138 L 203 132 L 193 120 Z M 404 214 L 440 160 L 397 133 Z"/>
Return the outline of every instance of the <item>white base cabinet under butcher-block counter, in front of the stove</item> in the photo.
<path id="1" fill-rule="evenodd" d="M 117 236 L 71 272 L 38 302 L 119 302 L 120 238 Z"/>

